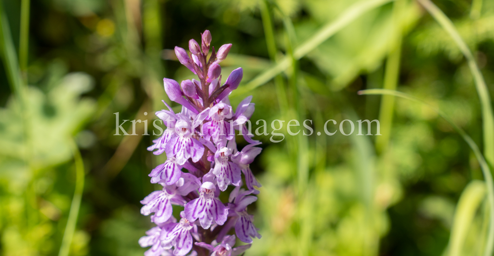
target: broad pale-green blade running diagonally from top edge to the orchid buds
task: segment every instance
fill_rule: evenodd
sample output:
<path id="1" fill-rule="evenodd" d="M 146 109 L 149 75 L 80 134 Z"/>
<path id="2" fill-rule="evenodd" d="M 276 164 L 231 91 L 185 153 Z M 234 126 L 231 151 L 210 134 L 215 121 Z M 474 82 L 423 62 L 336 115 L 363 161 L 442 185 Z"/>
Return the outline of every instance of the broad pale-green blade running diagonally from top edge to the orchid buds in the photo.
<path id="1" fill-rule="evenodd" d="M 312 37 L 302 42 L 298 47 L 293 50 L 293 57 L 296 60 L 301 59 L 307 53 L 314 50 L 324 41 L 328 40 L 338 31 L 343 29 L 345 26 L 350 24 L 352 21 L 356 20 L 358 17 L 364 13 L 377 8 L 385 3 L 391 2 L 393 0 L 361 0 L 354 3 L 347 10 L 345 10 L 338 18 L 334 21 L 328 22 L 324 25 L 318 32 L 316 32 Z M 264 73 L 257 75 L 255 78 L 250 80 L 247 84 L 240 86 L 237 90 L 233 91 L 231 97 L 239 96 L 247 93 L 256 87 L 265 84 L 269 80 L 273 79 L 277 74 L 284 72 L 291 65 L 290 57 L 284 57 L 278 63 L 276 63 L 272 68 L 268 69 Z"/>

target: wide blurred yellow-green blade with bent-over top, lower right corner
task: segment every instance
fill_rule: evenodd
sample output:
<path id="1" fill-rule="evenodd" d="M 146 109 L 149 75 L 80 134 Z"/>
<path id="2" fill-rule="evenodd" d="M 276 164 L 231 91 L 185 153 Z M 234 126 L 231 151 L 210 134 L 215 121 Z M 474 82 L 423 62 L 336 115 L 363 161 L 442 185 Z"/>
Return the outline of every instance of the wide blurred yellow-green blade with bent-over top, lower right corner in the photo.
<path id="1" fill-rule="evenodd" d="M 486 185 L 479 180 L 473 180 L 461 193 L 456 210 L 454 212 L 453 226 L 451 228 L 448 244 L 449 256 L 462 255 L 463 244 L 472 225 L 475 213 L 486 195 Z"/>

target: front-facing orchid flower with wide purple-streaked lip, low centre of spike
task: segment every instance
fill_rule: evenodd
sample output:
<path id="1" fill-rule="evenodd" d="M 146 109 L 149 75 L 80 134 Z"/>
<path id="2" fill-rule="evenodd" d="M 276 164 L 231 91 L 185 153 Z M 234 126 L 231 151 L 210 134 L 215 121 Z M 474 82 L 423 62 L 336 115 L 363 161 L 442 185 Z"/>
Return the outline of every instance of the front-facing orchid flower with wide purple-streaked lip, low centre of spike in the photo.
<path id="1" fill-rule="evenodd" d="M 201 226 L 207 229 L 211 223 L 223 225 L 228 216 L 228 207 L 219 199 L 214 198 L 216 187 L 211 182 L 205 182 L 199 189 L 199 198 L 196 198 L 185 205 L 187 219 L 195 221 L 199 219 Z"/>

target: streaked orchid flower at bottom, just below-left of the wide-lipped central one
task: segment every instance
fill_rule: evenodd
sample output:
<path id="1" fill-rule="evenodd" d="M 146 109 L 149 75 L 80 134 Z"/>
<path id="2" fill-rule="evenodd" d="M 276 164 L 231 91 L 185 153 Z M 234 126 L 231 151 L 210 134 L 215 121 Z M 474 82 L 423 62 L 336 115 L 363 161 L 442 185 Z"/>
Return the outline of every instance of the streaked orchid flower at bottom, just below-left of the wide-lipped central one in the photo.
<path id="1" fill-rule="evenodd" d="M 184 256 L 192 249 L 191 231 L 197 233 L 197 226 L 185 218 L 185 213 L 180 213 L 180 221 L 178 223 L 170 223 L 166 228 L 162 228 L 160 234 L 161 246 L 165 250 L 172 247 L 173 255 Z"/>

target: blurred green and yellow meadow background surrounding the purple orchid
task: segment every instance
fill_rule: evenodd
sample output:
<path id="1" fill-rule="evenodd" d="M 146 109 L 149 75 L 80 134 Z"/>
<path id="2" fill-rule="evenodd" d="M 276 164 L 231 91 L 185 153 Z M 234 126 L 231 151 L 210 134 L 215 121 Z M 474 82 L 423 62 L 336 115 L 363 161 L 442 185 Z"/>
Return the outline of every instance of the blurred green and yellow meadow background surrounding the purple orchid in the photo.
<path id="1" fill-rule="evenodd" d="M 462 137 L 423 104 L 357 94 L 414 95 L 485 146 L 471 70 L 418 2 L 1 2 L 1 255 L 143 255 L 137 240 L 152 223 L 139 200 L 155 189 L 147 175 L 165 156 L 146 150 L 156 136 L 142 135 L 142 123 L 136 136 L 115 136 L 114 113 L 149 119 L 152 134 L 153 113 L 170 102 L 163 77 L 192 75 L 173 47 L 187 49 L 205 29 L 216 49 L 233 43 L 223 76 L 244 69 L 234 107 L 253 95 L 254 121 L 313 120 L 311 136 L 288 136 L 285 123 L 281 143 L 256 137 L 263 151 L 251 169 L 263 186 L 249 212 L 263 237 L 246 256 L 484 254 L 487 189 Z M 434 3 L 492 97 L 494 2 Z M 379 119 L 382 136 L 325 136 L 329 119 Z M 69 218 L 71 206 L 78 215 Z"/>

